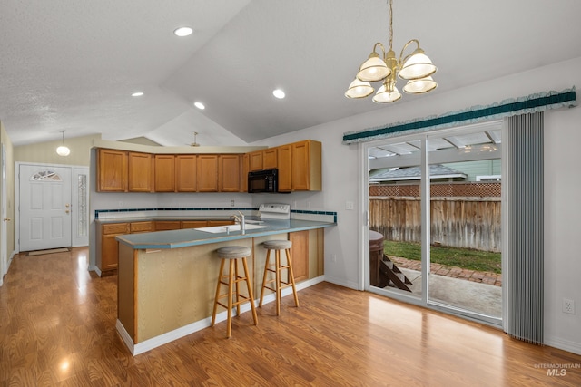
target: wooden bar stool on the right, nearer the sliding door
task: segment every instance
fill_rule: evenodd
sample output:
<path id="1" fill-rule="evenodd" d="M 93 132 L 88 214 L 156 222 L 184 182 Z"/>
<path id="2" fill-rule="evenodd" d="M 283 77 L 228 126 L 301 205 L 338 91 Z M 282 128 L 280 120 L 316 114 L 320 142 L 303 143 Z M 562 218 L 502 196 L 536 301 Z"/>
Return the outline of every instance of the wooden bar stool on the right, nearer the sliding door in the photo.
<path id="1" fill-rule="evenodd" d="M 294 304 L 299 306 L 299 296 L 297 295 L 297 288 L 294 284 L 294 274 L 292 273 L 291 261 L 291 247 L 290 240 L 269 240 L 264 242 L 262 246 L 268 249 L 266 253 L 266 265 L 264 266 L 264 276 L 262 276 L 261 302 L 264 298 L 264 289 L 269 289 L 276 293 L 276 315 L 281 314 L 281 290 L 285 287 L 292 286 L 292 294 L 294 295 Z M 274 265 L 271 266 L 271 250 L 274 250 Z M 287 264 L 281 264 L 281 250 L 286 252 Z M 287 280 L 282 281 L 281 271 L 287 270 Z M 268 274 L 274 273 L 274 279 L 267 280 Z M 273 283 L 272 286 L 269 284 Z"/>

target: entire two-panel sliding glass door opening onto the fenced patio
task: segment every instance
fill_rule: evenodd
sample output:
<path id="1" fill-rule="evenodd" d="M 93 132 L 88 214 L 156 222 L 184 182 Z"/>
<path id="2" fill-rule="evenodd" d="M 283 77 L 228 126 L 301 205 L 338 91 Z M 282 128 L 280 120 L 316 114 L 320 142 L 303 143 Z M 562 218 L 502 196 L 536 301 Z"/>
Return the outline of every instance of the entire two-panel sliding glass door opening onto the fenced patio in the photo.
<path id="1" fill-rule="evenodd" d="M 501 125 L 367 147 L 371 291 L 501 323 Z"/>

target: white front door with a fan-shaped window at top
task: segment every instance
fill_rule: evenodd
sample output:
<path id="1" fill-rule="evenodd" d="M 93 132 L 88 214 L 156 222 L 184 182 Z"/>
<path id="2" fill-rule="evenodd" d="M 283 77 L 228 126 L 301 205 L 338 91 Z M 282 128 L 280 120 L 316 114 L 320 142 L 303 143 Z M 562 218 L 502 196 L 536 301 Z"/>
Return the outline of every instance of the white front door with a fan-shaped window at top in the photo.
<path id="1" fill-rule="evenodd" d="M 20 165 L 20 251 L 71 246 L 71 169 Z"/>

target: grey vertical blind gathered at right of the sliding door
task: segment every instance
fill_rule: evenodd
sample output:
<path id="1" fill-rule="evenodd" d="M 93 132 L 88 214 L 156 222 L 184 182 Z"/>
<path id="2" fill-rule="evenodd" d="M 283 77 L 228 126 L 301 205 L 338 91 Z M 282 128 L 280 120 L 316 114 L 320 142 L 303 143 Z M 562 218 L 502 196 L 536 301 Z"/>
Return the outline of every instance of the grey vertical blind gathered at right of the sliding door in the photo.
<path id="1" fill-rule="evenodd" d="M 507 333 L 543 343 L 543 112 L 507 118 Z"/>

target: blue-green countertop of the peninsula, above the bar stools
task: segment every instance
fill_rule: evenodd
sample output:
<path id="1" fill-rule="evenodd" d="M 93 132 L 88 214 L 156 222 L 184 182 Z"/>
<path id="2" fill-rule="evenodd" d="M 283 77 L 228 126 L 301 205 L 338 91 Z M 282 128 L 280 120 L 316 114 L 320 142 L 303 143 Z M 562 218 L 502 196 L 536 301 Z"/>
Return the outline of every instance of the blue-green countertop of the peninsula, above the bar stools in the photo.
<path id="1" fill-rule="evenodd" d="M 217 242 L 227 242 L 249 237 L 262 237 L 316 228 L 333 227 L 337 226 L 337 223 L 299 219 L 264 220 L 262 226 L 268 226 L 268 228 L 246 230 L 245 234 L 242 234 L 241 231 L 230 231 L 230 233 L 224 231 L 222 233 L 214 234 L 200 231 L 196 228 L 186 228 L 143 234 L 128 234 L 118 236 L 116 239 L 120 243 L 133 247 L 133 249 L 181 248 Z"/>

